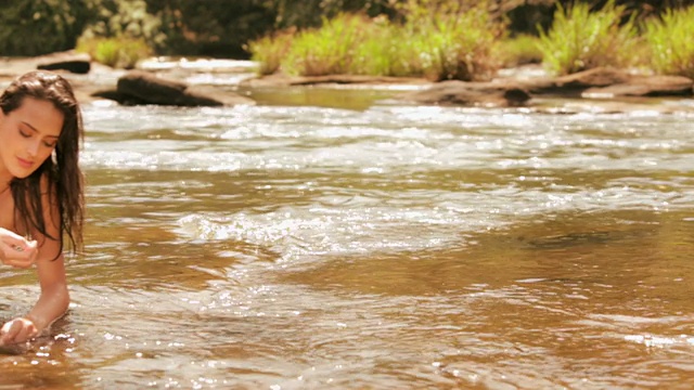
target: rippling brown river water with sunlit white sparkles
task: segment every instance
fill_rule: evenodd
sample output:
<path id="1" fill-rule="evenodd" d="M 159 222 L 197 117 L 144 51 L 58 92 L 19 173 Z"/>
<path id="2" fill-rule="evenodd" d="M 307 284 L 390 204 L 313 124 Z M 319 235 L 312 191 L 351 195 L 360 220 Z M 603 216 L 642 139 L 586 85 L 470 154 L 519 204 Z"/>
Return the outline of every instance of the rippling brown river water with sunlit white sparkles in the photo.
<path id="1" fill-rule="evenodd" d="M 249 93 L 85 107 L 72 309 L 0 389 L 694 387 L 693 115 Z"/>

